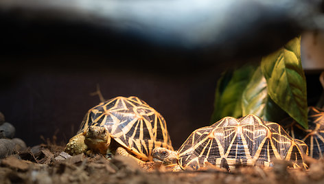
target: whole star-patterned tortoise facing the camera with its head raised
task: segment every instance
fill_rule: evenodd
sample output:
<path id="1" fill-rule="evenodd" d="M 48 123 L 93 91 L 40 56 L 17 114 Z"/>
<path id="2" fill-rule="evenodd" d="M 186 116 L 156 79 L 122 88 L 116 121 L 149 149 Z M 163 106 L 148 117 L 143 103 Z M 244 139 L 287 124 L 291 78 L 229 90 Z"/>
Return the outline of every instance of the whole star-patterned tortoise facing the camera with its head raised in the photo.
<path id="1" fill-rule="evenodd" d="M 115 97 L 91 108 L 65 147 L 75 155 L 115 154 L 152 161 L 154 148 L 173 150 L 165 119 L 139 97 Z"/>

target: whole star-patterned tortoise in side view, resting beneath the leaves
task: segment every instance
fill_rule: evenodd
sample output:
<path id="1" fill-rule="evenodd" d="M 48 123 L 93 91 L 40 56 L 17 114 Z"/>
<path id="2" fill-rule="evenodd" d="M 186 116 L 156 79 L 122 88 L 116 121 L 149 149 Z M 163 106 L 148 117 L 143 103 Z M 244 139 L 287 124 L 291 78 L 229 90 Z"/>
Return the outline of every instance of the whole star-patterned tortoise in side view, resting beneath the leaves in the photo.
<path id="1" fill-rule="evenodd" d="M 303 141 L 292 139 L 279 124 L 246 115 L 239 119 L 224 117 L 194 130 L 177 152 L 155 148 L 153 160 L 169 166 L 177 164 L 182 170 L 211 164 L 227 170 L 235 165 L 271 166 L 275 159 L 291 161 L 294 168 L 307 168 L 303 161 L 307 150 Z"/>

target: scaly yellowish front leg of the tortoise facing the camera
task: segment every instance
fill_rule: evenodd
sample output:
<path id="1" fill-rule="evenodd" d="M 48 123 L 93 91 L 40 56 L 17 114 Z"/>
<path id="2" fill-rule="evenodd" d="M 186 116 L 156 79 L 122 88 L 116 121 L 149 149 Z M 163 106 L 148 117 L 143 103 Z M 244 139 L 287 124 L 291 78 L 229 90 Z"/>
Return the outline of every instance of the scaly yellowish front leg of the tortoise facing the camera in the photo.
<path id="1" fill-rule="evenodd" d="M 64 151 L 71 155 L 81 154 L 88 150 L 88 146 L 84 143 L 84 133 L 80 133 L 69 140 Z"/>

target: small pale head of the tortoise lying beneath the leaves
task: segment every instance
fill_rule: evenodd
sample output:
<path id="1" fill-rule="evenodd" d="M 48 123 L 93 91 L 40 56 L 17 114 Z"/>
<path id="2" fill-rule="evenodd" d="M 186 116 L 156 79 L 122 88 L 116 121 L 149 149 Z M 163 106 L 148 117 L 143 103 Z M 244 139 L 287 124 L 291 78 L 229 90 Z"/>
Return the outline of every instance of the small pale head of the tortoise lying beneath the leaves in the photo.
<path id="1" fill-rule="evenodd" d="M 178 163 L 178 153 L 166 148 L 154 148 L 152 151 L 153 161 L 162 162 L 164 165 Z"/>

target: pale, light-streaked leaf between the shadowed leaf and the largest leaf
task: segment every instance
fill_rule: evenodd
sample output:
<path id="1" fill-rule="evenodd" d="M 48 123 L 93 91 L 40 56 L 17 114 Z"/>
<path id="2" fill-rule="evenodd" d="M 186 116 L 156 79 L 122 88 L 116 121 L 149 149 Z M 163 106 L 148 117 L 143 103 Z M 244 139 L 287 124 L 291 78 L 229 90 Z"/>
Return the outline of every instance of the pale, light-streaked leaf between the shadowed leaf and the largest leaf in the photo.
<path id="1" fill-rule="evenodd" d="M 266 78 L 258 67 L 242 94 L 242 116 L 254 114 L 270 122 L 279 122 L 286 113 L 268 95 Z"/>

